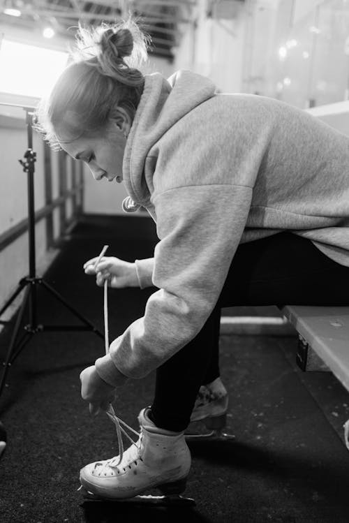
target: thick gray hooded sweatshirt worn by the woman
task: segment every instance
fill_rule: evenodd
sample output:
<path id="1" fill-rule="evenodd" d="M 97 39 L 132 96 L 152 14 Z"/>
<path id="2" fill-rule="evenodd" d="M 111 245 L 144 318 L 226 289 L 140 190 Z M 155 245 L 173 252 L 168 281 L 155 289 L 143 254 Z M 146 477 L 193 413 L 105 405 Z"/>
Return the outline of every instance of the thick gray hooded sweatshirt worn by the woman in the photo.
<path id="1" fill-rule="evenodd" d="M 239 243 L 290 230 L 349 266 L 349 139 L 273 98 L 216 94 L 207 78 L 155 73 L 128 135 L 124 182 L 156 221 L 144 316 L 96 361 L 112 385 L 188 344 L 211 313 Z"/>

